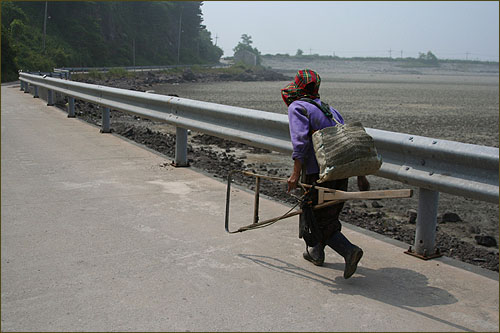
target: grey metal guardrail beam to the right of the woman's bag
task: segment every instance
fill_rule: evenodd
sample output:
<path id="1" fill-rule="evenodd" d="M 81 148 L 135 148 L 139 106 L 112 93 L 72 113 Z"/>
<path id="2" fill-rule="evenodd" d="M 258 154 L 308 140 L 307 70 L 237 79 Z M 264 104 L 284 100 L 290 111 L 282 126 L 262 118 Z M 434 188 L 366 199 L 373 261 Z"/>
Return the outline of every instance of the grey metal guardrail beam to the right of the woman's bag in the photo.
<path id="1" fill-rule="evenodd" d="M 369 128 L 367 133 L 383 157 L 377 176 L 498 204 L 498 148 Z"/>

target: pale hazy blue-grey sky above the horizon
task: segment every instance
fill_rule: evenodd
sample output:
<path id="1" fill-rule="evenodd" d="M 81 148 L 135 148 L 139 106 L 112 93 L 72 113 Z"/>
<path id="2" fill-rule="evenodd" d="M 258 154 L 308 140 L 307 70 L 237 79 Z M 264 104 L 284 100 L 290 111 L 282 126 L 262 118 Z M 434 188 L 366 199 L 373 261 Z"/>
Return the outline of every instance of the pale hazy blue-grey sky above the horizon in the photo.
<path id="1" fill-rule="evenodd" d="M 204 1 L 224 56 L 241 35 L 261 54 L 499 60 L 498 1 Z"/>

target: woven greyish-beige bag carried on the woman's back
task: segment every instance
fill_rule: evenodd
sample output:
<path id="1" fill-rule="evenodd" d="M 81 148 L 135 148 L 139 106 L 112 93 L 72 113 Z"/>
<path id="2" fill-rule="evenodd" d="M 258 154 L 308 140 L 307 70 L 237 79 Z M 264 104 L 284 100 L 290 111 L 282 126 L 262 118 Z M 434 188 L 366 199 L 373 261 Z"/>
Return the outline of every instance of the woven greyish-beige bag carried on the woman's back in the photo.
<path id="1" fill-rule="evenodd" d="M 373 138 L 360 122 L 326 127 L 312 135 L 318 183 L 374 174 L 382 165 Z"/>

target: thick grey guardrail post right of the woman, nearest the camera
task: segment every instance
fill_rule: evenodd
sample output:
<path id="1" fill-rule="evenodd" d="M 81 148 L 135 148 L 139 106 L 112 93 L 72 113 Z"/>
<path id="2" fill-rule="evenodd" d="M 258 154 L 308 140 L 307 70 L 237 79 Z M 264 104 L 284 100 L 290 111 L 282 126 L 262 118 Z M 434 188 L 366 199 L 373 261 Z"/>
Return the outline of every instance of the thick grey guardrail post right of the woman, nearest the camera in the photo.
<path id="1" fill-rule="evenodd" d="M 435 251 L 438 202 L 439 192 L 419 189 L 415 252 L 422 259 L 440 256 Z"/>

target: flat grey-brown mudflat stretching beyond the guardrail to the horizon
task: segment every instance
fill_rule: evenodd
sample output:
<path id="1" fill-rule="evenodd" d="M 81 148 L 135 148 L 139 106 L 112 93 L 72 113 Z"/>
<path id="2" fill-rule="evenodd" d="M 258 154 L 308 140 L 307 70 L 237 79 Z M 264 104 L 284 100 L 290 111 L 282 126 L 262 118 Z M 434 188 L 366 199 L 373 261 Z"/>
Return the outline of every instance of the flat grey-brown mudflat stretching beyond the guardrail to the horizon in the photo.
<path id="1" fill-rule="evenodd" d="M 498 65 L 403 68 L 378 61 L 264 61 L 293 78 L 310 68 L 320 95 L 346 121 L 365 127 L 498 147 Z M 286 113 L 280 89 L 289 81 L 166 84 L 158 93 Z"/>

